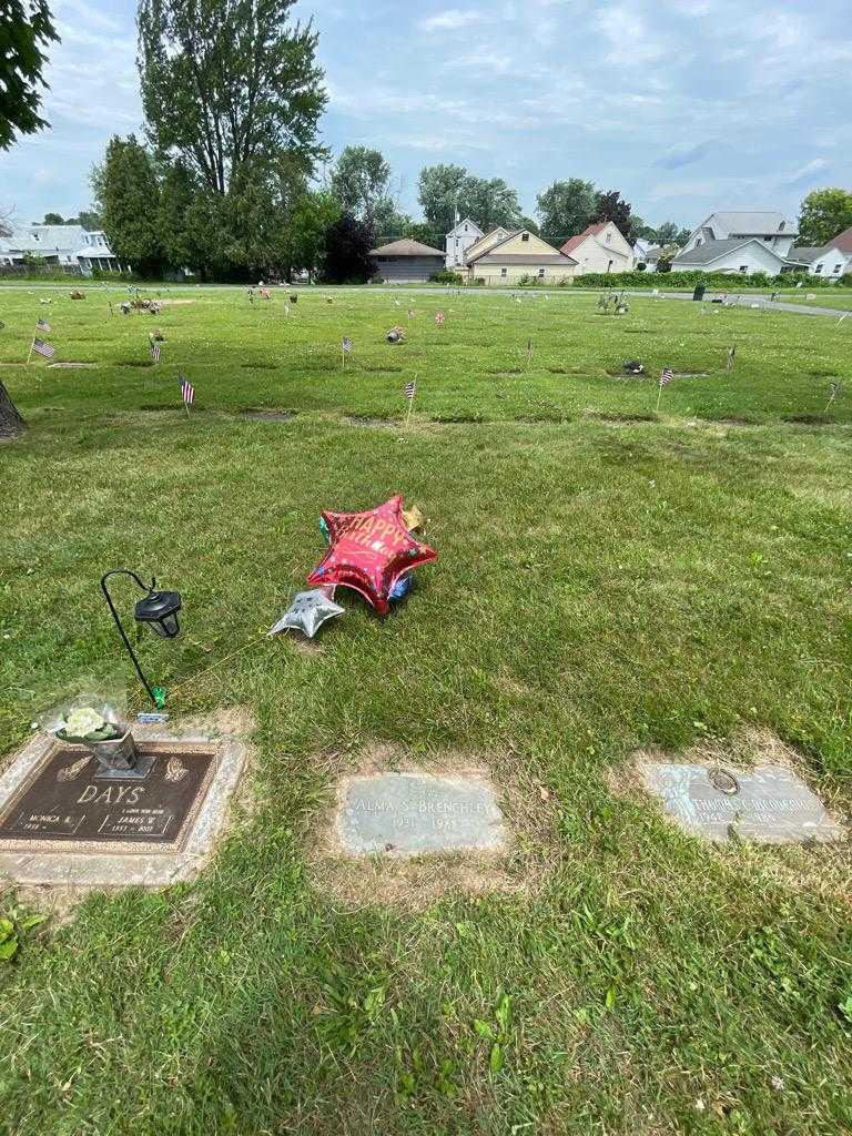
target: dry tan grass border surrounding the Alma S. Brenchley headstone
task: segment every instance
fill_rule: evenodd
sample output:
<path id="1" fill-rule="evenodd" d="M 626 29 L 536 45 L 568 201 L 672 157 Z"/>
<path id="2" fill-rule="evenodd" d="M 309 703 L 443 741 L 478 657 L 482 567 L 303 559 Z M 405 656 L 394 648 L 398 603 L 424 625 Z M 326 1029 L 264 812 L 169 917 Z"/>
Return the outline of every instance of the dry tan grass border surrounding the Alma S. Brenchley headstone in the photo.
<path id="1" fill-rule="evenodd" d="M 387 744 L 317 754 L 312 765 L 327 778 L 319 818 L 308 818 L 306 840 L 312 886 L 348 908 L 392 904 L 409 910 L 431 907 L 448 894 L 538 891 L 559 857 L 556 816 L 549 792 L 525 771 L 517 753 L 465 754 L 443 751 L 428 757 Z M 344 777 L 384 772 L 478 776 L 495 786 L 509 833 L 499 852 L 428 853 L 419 857 L 351 855 L 335 827 L 336 791 Z M 315 819 L 319 822 L 315 825 Z"/>

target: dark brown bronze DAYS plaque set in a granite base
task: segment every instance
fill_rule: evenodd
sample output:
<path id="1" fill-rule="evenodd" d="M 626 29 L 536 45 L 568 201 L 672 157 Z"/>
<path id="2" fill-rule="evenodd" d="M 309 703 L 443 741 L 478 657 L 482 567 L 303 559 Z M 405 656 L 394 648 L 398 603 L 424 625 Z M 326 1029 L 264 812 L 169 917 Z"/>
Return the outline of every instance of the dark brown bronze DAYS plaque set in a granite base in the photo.
<path id="1" fill-rule="evenodd" d="M 211 753 L 158 753 L 143 782 L 99 780 L 94 759 L 59 746 L 0 815 L 0 849 L 33 842 L 175 846 L 211 771 Z"/>

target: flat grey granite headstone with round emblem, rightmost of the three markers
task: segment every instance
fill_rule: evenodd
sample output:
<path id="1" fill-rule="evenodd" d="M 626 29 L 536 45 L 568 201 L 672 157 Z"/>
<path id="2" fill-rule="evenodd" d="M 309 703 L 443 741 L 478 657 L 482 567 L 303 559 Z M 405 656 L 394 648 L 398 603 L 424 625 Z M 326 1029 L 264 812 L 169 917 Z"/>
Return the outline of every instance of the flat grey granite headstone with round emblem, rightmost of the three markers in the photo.
<path id="1" fill-rule="evenodd" d="M 700 765 L 643 762 L 646 788 L 695 836 L 729 840 L 732 833 L 763 844 L 842 840 L 844 829 L 785 766 L 741 770 Z"/>

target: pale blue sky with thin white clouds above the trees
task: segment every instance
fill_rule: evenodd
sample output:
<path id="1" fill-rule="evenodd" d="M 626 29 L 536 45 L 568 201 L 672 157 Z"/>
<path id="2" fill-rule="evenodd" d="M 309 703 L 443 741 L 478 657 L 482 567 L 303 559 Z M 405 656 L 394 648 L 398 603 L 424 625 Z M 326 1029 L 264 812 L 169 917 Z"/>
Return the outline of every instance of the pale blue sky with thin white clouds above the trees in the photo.
<path id="1" fill-rule="evenodd" d="M 73 216 L 111 134 L 141 133 L 134 0 L 51 0 L 43 115 L 0 152 L 0 209 Z M 323 141 L 379 149 L 418 215 L 423 166 L 620 190 L 651 225 L 852 186 L 849 0 L 298 0 L 329 95 Z"/>

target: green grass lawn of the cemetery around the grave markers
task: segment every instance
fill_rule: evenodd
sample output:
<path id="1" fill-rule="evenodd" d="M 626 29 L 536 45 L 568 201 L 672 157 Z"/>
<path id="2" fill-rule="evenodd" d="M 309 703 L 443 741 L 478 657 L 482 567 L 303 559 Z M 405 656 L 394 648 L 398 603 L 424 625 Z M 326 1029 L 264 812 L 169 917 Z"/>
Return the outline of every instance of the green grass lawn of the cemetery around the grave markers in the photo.
<path id="1" fill-rule="evenodd" d="M 241 708 L 254 755 L 193 884 L 92 894 L 0 964 L 0 1129 L 849 1131 L 845 843 L 703 843 L 629 772 L 638 750 L 759 736 L 849 817 L 849 321 L 43 295 L 0 296 L 28 424 L 0 446 L 0 753 L 83 679 L 135 691 L 98 590 L 130 567 L 183 593 L 182 636 L 140 642 L 173 716 Z M 89 366 L 22 366 L 39 317 Z M 662 367 L 692 377 L 658 414 Z M 381 619 L 345 593 L 310 650 L 267 640 L 323 556 L 320 510 L 396 492 L 440 557 L 411 596 Z M 392 859 L 317 859 L 334 777 L 377 752 L 490 770 L 501 886 L 476 864 L 453 886 L 459 858 L 390 891 Z M 6 889 L 0 916 L 53 902 Z"/>

